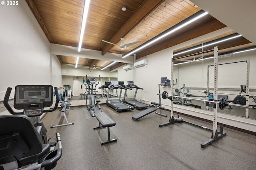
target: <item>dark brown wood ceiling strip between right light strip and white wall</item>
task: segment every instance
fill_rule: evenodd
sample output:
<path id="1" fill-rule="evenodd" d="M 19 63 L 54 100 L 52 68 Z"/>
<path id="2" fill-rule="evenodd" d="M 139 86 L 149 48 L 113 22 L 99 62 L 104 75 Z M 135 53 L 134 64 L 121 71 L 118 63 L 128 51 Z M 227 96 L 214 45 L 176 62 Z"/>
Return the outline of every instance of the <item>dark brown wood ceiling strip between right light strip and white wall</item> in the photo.
<path id="1" fill-rule="evenodd" d="M 192 40 L 194 38 L 203 36 L 205 34 L 219 30 L 224 27 L 226 27 L 226 25 L 224 25 L 221 22 L 219 22 L 218 20 L 214 19 L 214 20 L 204 24 L 203 26 L 198 26 L 198 27 L 196 27 L 192 30 L 188 30 L 187 32 L 182 33 L 178 36 L 175 36 L 175 37 L 170 36 L 170 38 L 168 38 L 167 40 L 160 41 L 158 43 L 153 43 L 152 45 L 149 45 L 143 51 L 139 51 L 138 53 L 136 53 L 136 59 L 139 59 L 146 55 L 150 55 L 157 51 L 161 51 L 163 49 L 172 47 L 174 45 L 186 42 L 188 40 Z"/>

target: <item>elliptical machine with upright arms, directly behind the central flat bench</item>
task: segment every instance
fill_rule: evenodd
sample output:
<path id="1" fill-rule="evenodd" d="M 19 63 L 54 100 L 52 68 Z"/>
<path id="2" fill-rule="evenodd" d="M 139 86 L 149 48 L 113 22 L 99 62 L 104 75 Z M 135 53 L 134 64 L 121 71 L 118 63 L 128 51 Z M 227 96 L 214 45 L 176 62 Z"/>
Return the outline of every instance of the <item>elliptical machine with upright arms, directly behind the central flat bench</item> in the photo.
<path id="1" fill-rule="evenodd" d="M 83 78 L 84 81 L 84 78 Z M 98 100 L 98 96 L 96 94 L 96 86 L 99 84 L 100 82 L 100 76 L 98 79 L 98 83 L 96 84 L 96 79 L 94 77 L 90 77 L 89 79 L 87 79 L 87 75 L 86 75 L 86 83 L 88 85 L 88 93 L 86 95 L 86 108 L 89 111 L 90 115 L 92 117 L 95 117 L 94 113 L 96 112 L 102 112 L 102 109 L 100 107 L 100 100 Z M 89 101 L 89 103 L 87 103 L 87 100 Z M 98 108 L 96 108 L 96 105 Z"/>

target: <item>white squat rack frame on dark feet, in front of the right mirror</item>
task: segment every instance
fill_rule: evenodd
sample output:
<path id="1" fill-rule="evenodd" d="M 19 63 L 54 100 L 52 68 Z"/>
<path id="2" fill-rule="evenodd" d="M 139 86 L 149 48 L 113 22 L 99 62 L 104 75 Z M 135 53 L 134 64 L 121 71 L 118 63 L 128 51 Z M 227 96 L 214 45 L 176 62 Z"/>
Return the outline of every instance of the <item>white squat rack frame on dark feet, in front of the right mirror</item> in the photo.
<path id="1" fill-rule="evenodd" d="M 217 99 L 217 94 L 218 94 L 218 47 L 214 47 L 214 49 L 211 50 L 207 50 L 207 51 L 202 51 L 200 53 L 206 53 L 206 52 L 210 52 L 210 51 L 214 51 L 214 101 L 218 101 Z M 200 53 L 196 53 L 196 54 L 200 54 Z M 195 55 L 195 54 L 191 54 L 191 55 Z M 188 55 L 184 56 L 187 57 Z M 180 59 L 183 57 L 178 57 L 176 59 Z M 172 59 L 171 62 L 171 80 L 173 80 L 173 61 L 175 59 Z M 171 89 L 173 89 L 173 84 L 171 83 Z M 173 93 L 173 92 L 172 92 Z M 159 94 L 161 95 L 161 94 Z M 215 142 L 216 140 L 218 140 L 219 138 L 223 137 L 226 135 L 226 132 L 223 133 L 223 127 L 220 126 L 220 132 L 218 132 L 217 130 L 217 108 L 218 107 L 214 107 L 213 109 L 213 129 L 212 129 L 212 137 L 207 140 L 206 142 L 203 142 L 201 144 L 201 147 L 204 148 L 206 146 L 208 146 L 209 144 L 211 144 L 212 142 Z M 174 119 L 173 117 L 173 100 L 171 100 L 171 115 L 170 115 L 170 119 L 168 123 L 164 123 L 159 125 L 159 127 L 164 127 L 166 125 L 171 125 L 173 123 L 176 123 L 177 121 Z M 180 120 L 179 116 L 178 118 L 176 118 L 177 120 Z M 191 124 L 191 123 L 190 123 Z M 202 127 L 200 125 L 196 125 L 199 127 Z M 203 127 L 204 128 L 204 127 Z"/>

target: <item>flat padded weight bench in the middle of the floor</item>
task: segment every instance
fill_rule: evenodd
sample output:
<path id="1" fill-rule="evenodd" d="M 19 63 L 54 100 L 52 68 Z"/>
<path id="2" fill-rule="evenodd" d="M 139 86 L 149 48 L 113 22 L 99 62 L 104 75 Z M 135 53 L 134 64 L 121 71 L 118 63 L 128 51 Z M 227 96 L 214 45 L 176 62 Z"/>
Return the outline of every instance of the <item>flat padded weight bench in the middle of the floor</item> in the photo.
<path id="1" fill-rule="evenodd" d="M 108 140 L 101 142 L 101 145 L 108 144 L 111 142 L 116 142 L 117 139 L 110 139 L 110 132 L 109 132 L 109 127 L 113 127 L 116 125 L 116 122 L 113 121 L 105 112 L 96 112 L 94 113 L 96 119 L 99 121 L 99 126 L 94 127 L 93 129 L 98 129 L 98 128 L 108 128 Z"/>

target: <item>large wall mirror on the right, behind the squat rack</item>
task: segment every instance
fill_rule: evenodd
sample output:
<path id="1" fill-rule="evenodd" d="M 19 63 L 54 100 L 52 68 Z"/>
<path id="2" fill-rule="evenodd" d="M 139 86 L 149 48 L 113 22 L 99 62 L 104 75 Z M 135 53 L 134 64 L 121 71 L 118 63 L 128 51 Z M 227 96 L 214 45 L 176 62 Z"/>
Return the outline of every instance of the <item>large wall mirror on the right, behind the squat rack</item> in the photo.
<path id="1" fill-rule="evenodd" d="M 218 45 L 216 45 L 218 46 Z M 184 49 L 174 51 L 174 54 Z M 202 48 L 201 51 L 209 49 Z M 256 105 L 256 77 L 254 76 L 256 64 L 256 50 L 244 53 L 224 53 L 218 51 L 218 99 L 225 97 L 230 103 L 240 105 Z M 186 55 L 184 55 L 186 56 Z M 174 61 L 173 77 L 174 95 L 194 99 L 211 100 L 214 90 L 214 59 L 212 52 L 191 55 Z M 208 84 L 208 85 L 207 85 Z M 208 86 L 208 91 L 206 91 Z M 254 96 L 246 96 L 254 95 Z M 213 111 L 214 103 L 176 98 L 174 103 Z M 256 110 L 243 107 L 226 107 L 218 109 L 219 113 L 256 119 Z"/>

